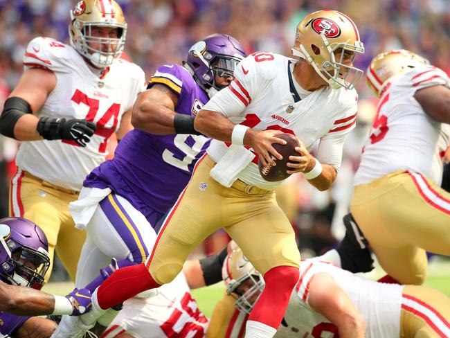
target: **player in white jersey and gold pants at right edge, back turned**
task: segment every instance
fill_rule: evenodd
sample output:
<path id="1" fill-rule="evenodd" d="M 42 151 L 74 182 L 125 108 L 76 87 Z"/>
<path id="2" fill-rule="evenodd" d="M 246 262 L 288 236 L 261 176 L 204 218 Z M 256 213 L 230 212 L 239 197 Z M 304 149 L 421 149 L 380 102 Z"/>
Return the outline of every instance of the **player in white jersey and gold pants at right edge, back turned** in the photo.
<path id="1" fill-rule="evenodd" d="M 450 256 L 450 193 L 440 188 L 450 80 L 405 50 L 377 55 L 367 76 L 380 99 L 350 211 L 381 267 L 399 283 L 420 285 L 426 251 Z"/>

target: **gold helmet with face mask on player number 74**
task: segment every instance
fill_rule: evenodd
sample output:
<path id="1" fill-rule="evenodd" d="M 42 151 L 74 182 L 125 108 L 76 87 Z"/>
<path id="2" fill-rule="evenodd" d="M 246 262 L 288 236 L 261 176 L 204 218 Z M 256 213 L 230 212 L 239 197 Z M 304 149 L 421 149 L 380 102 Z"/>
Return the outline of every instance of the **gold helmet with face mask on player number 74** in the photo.
<path id="1" fill-rule="evenodd" d="M 117 28 L 117 37 L 95 37 L 93 27 Z M 71 45 L 94 66 L 104 68 L 120 57 L 125 47 L 127 23 L 114 0 L 81 0 L 71 10 Z"/>

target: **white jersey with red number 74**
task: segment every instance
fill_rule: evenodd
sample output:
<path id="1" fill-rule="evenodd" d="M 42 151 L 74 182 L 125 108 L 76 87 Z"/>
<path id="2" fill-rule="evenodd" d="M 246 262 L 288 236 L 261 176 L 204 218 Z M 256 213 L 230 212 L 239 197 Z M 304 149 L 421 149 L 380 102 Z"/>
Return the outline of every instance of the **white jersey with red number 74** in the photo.
<path id="1" fill-rule="evenodd" d="M 118 60 L 99 78 L 74 48 L 45 37 L 28 44 L 24 66 L 49 69 L 57 78 L 55 89 L 34 112 L 37 117 L 84 118 L 97 130 L 86 148 L 62 140 L 24 141 L 17 166 L 56 186 L 80 190 L 84 177 L 105 160 L 107 141 L 123 113 L 145 89 L 145 74 L 136 64 Z"/>

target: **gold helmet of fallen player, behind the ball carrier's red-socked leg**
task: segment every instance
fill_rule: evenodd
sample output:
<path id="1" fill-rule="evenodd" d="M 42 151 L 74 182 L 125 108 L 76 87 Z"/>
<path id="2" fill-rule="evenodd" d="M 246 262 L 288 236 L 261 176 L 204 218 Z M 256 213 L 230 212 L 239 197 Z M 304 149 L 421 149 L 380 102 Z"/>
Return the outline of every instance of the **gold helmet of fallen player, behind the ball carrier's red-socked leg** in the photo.
<path id="1" fill-rule="evenodd" d="M 226 294 L 234 296 L 235 306 L 242 313 L 249 314 L 264 289 L 264 279 L 260 272 L 244 256 L 239 247 L 226 256 L 222 266 L 222 278 L 226 286 Z M 241 294 L 237 287 L 249 279 L 252 286 Z"/>

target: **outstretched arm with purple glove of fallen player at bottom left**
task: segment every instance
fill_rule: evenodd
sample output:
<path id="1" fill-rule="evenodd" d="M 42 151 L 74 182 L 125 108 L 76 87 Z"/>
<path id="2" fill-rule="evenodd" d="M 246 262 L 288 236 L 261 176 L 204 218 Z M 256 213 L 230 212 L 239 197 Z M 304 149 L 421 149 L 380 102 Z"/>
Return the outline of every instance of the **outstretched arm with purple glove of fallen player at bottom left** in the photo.
<path id="1" fill-rule="evenodd" d="M 0 282 L 0 311 L 19 316 L 42 314 L 80 315 L 91 309 L 89 290 L 73 290 L 67 296 L 47 294 L 30 287 L 8 285 Z"/>

